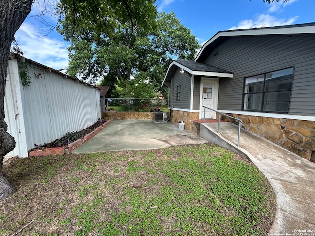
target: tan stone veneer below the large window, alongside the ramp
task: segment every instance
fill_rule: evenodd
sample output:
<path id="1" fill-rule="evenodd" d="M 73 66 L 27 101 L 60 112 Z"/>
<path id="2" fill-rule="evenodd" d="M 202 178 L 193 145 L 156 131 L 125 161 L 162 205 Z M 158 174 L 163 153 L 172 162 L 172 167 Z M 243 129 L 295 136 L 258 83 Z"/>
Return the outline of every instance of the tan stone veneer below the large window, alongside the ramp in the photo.
<path id="1" fill-rule="evenodd" d="M 227 114 L 242 119 L 242 128 L 262 136 L 299 156 L 315 162 L 315 122 Z M 233 121 L 222 116 L 222 120 Z"/>

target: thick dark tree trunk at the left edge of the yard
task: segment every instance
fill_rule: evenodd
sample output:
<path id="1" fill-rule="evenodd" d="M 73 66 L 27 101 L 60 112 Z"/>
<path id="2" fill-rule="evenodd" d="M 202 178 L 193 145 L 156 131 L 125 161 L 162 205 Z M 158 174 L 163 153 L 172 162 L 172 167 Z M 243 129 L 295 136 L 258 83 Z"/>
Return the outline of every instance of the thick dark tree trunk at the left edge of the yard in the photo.
<path id="1" fill-rule="evenodd" d="M 4 156 L 15 148 L 14 138 L 7 133 L 4 121 L 4 95 L 10 47 L 15 32 L 31 11 L 33 0 L 0 0 L 0 200 L 15 190 L 3 176 Z"/>

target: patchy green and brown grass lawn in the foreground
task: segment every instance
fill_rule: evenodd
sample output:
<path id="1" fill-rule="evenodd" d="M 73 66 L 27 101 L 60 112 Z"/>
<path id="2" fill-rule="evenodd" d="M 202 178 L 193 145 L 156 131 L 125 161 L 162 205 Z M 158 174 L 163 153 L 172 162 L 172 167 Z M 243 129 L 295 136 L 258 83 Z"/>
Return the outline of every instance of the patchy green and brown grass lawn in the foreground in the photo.
<path id="1" fill-rule="evenodd" d="M 211 144 L 32 157 L 4 169 L 0 235 L 267 235 L 275 196 L 246 158 Z"/>

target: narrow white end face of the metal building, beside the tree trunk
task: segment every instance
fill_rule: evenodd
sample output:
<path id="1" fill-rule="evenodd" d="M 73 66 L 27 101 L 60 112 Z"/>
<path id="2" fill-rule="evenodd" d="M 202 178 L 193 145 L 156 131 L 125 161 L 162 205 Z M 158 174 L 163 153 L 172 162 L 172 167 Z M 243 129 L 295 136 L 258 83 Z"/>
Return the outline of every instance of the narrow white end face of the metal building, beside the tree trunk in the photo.
<path id="1" fill-rule="evenodd" d="M 22 91 L 23 92 L 23 91 Z M 16 60 L 9 61 L 8 75 L 5 85 L 4 97 L 4 121 L 8 125 L 8 133 L 11 134 L 16 142 L 13 151 L 9 152 L 9 156 L 27 156 L 26 136 L 23 121 L 23 109 L 21 101 L 21 85 L 18 74 Z"/>

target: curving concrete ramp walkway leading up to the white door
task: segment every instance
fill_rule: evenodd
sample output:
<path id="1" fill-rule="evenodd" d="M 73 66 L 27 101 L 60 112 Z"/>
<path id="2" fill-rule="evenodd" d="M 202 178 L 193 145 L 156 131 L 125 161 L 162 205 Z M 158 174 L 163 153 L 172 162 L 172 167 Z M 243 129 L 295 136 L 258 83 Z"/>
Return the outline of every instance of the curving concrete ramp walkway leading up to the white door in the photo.
<path id="1" fill-rule="evenodd" d="M 315 163 L 280 146 L 241 130 L 232 123 L 200 125 L 200 136 L 209 142 L 246 154 L 275 190 L 277 212 L 269 235 L 315 235 Z M 308 232 L 309 231 L 309 232 Z"/>

